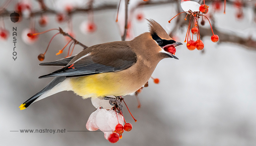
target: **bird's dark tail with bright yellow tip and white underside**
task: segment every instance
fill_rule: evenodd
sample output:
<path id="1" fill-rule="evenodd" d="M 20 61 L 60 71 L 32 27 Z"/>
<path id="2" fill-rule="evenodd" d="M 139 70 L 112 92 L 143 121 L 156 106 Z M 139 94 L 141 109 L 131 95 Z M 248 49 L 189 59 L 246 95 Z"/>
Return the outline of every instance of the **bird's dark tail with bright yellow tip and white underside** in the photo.
<path id="1" fill-rule="evenodd" d="M 27 108 L 30 104 L 41 100 L 45 97 L 51 96 L 55 93 L 68 90 L 68 86 L 65 84 L 68 81 L 64 81 L 66 78 L 65 76 L 55 77 L 46 87 L 44 87 L 43 90 L 36 93 L 34 96 L 29 98 L 27 101 L 25 101 L 23 104 L 20 105 L 20 110 L 24 110 Z M 65 82 L 65 83 L 64 83 Z M 65 85 L 64 85 L 64 84 Z"/>

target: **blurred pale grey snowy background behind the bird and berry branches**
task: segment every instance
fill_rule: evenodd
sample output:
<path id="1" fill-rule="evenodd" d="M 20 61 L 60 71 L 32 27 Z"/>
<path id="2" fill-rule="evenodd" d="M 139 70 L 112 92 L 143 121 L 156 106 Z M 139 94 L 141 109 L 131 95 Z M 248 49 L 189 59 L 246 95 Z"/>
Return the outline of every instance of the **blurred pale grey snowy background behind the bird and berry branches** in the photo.
<path id="1" fill-rule="evenodd" d="M 51 5 L 51 1 L 46 1 Z M 115 1 L 117 2 L 117 1 Z M 3 2 L 1 2 L 3 3 Z M 38 6 L 36 2 L 34 5 Z M 12 10 L 13 4 L 10 6 Z M 165 4 L 138 9 L 145 18 L 155 19 L 169 32 L 172 24 L 168 20 L 175 14 L 175 5 Z M 242 36 L 255 38 L 255 23 L 248 17 L 242 21 L 235 18 L 235 9 L 227 7 L 226 15 L 216 14 L 217 27 L 228 29 Z M 136 13 L 136 12 L 135 12 Z M 86 14 L 76 14 L 73 19 L 77 40 L 87 46 L 104 42 L 120 41 L 120 31 L 115 22 L 116 10 L 94 12 L 97 31 L 90 35 L 81 33 L 79 27 L 87 19 Z M 38 31 L 50 28 L 66 28 L 58 24 L 55 16 L 49 15 L 50 24 Z M 232 25 L 231 25 L 232 24 Z M 59 67 L 38 66 L 37 56 L 43 53 L 55 32 L 40 35 L 33 45 L 21 39 L 22 30 L 29 21 L 12 23 L 5 18 L 6 29 L 12 33 L 17 27 L 17 59 L 12 59 L 12 37 L 1 41 L 0 53 L 0 145 L 171 145 L 171 146 L 255 146 L 256 145 L 256 52 L 243 46 L 229 43 L 213 43 L 204 38 L 205 53 L 190 51 L 186 45 L 177 47 L 180 60 L 164 59 L 156 67 L 153 77 L 160 84 L 149 80 L 149 87 L 139 94 L 141 108 L 137 108 L 135 96 L 125 96 L 135 123 L 126 108 L 124 118 L 132 123 L 133 129 L 124 132 L 123 138 L 111 144 L 103 132 L 66 133 L 20 133 L 20 129 L 66 129 L 87 130 L 85 124 L 95 110 L 90 99 L 83 100 L 71 91 L 64 91 L 20 111 L 20 104 L 44 88 L 52 78 L 38 79 Z M 148 31 L 146 21 L 132 21 L 133 35 Z M 254 34 L 254 36 L 253 36 Z M 180 42 L 185 32 L 177 34 Z M 218 35 L 218 34 L 217 34 Z M 220 38 L 221 39 L 221 38 Z M 66 44 L 59 35 L 51 43 L 43 62 L 64 58 L 67 49 L 55 53 Z M 73 54 L 82 50 L 75 47 Z"/>

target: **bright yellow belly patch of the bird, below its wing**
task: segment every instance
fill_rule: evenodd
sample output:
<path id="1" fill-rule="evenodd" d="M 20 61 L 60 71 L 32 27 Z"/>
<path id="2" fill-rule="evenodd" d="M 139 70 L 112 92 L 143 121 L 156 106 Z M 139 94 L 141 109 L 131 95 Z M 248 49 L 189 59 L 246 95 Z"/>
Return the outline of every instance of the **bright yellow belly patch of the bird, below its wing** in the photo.
<path id="1" fill-rule="evenodd" d="M 73 91 L 83 98 L 122 96 L 125 90 L 121 87 L 120 78 L 113 73 L 99 73 L 84 77 L 71 78 Z M 119 81 L 118 81 L 119 80 Z M 124 91 L 122 91 L 124 90 Z"/>

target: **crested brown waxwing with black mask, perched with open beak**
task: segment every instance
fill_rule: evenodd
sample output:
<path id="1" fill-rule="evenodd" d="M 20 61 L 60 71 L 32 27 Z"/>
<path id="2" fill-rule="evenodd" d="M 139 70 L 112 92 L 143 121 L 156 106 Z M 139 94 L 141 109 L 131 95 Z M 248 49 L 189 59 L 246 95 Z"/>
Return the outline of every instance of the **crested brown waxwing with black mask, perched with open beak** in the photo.
<path id="1" fill-rule="evenodd" d="M 54 78 L 21 104 L 20 110 L 61 91 L 73 91 L 86 99 L 125 96 L 140 89 L 150 79 L 159 61 L 164 58 L 178 59 L 167 48 L 182 45 L 174 41 L 155 20 L 149 19 L 148 24 L 149 32 L 131 41 L 97 44 L 77 55 L 39 64 L 62 68 L 40 76 Z"/>

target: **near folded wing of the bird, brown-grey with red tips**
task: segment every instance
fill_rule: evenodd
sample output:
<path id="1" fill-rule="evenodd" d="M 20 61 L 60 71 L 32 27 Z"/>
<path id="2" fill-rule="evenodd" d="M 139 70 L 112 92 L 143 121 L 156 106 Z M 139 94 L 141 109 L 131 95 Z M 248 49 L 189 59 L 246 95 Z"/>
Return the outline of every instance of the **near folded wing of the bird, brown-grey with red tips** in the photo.
<path id="1" fill-rule="evenodd" d="M 93 47 L 93 46 L 92 46 Z M 127 69 L 137 61 L 136 54 L 126 46 L 97 45 L 91 52 L 79 53 L 75 61 L 71 61 L 67 66 L 39 78 L 48 78 L 55 76 L 66 76 L 66 78 L 81 77 L 97 73 L 117 72 Z M 82 51 L 81 53 L 84 53 Z"/>

